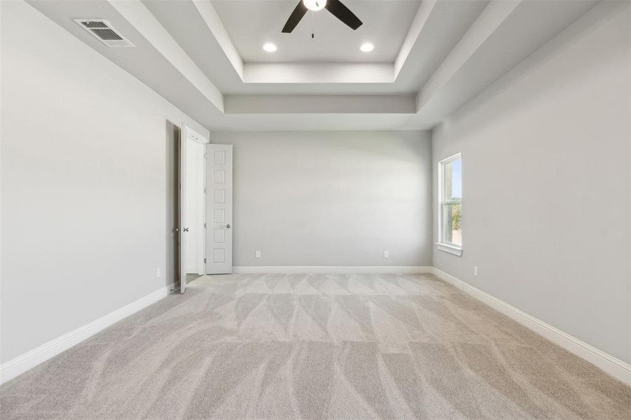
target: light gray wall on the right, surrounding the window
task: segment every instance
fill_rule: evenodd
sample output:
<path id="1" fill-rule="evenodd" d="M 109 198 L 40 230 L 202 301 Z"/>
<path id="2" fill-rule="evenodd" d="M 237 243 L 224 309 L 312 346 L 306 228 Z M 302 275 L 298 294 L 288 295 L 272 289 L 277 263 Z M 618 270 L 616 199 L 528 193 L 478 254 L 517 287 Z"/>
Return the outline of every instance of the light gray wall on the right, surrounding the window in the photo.
<path id="1" fill-rule="evenodd" d="M 464 253 L 434 265 L 627 362 L 630 26 L 570 28 L 433 132 L 464 173 Z"/>

